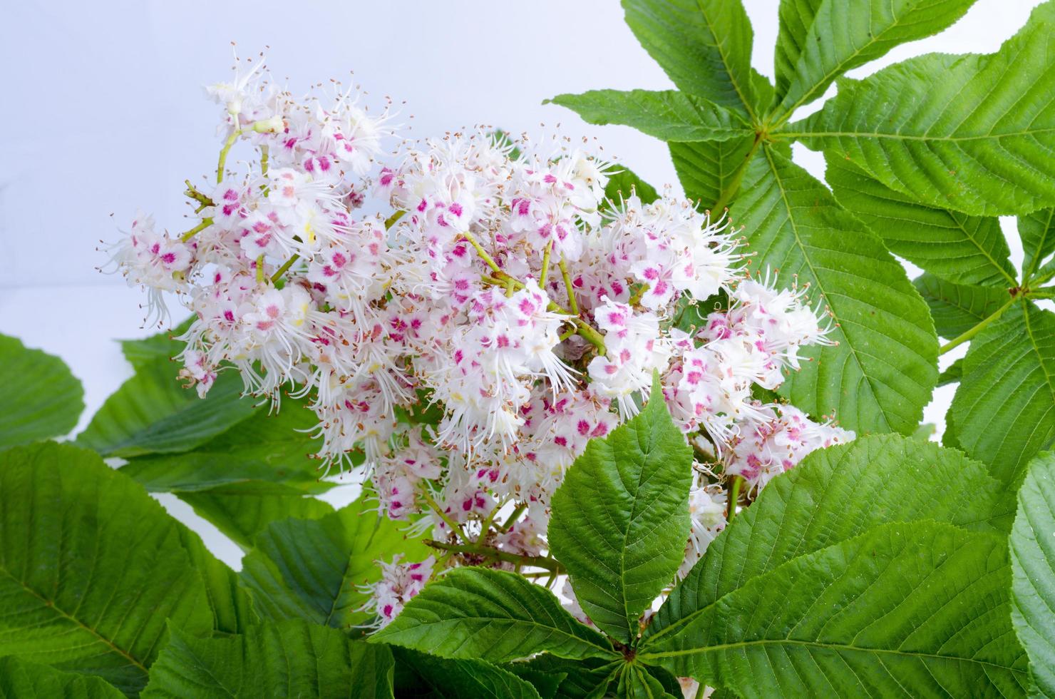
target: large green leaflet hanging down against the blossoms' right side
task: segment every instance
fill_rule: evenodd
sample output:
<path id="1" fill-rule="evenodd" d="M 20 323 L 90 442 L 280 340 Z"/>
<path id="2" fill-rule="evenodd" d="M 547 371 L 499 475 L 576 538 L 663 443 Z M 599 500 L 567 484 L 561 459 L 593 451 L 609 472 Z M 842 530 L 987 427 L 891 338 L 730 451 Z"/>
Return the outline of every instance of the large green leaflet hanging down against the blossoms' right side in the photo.
<path id="1" fill-rule="evenodd" d="M 904 268 L 820 182 L 766 147 L 751 160 L 730 216 L 745 227 L 752 267 L 781 286 L 809 284 L 835 327 L 808 347 L 781 395 L 814 417 L 861 432 L 910 434 L 938 379 L 926 304 Z"/>

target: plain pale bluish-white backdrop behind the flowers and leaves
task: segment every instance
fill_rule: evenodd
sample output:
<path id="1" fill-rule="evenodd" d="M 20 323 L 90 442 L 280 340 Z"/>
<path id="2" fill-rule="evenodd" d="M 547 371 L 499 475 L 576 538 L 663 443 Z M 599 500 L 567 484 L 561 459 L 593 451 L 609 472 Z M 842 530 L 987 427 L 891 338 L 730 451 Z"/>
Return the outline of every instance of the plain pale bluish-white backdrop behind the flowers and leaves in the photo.
<path id="1" fill-rule="evenodd" d="M 948 31 L 850 75 L 923 53 L 996 51 L 1035 4 L 979 0 Z M 745 5 L 754 24 L 752 62 L 772 77 L 778 1 Z M 228 77 L 231 41 L 243 56 L 266 50 L 273 75 L 288 77 L 294 92 L 347 81 L 354 71 L 369 93 L 365 103 L 380 108 L 384 95 L 405 100 L 399 121 L 409 136 L 477 124 L 533 135 L 559 130 L 596 137 L 594 147 L 648 182 L 676 187 L 659 141 L 541 103 L 564 92 L 673 87 L 615 0 L 7 3 L 0 23 L 0 333 L 70 364 L 84 383 L 82 426 L 131 376 L 113 339 L 154 332 L 140 327 L 141 294 L 95 270 L 107 258 L 96 246 L 115 240 L 140 208 L 174 231 L 187 227 L 181 183 L 214 168 L 219 148 L 219 108 L 200 86 Z M 797 160 L 821 176 L 823 158 L 795 148 Z M 1013 230 L 1013 221 L 1004 224 Z M 1010 242 L 1019 264 L 1013 232 Z M 943 427 L 952 393 L 937 390 L 925 419 Z M 343 502 L 344 490 L 332 498 Z M 160 499 L 238 567 L 233 544 L 174 497 Z"/>

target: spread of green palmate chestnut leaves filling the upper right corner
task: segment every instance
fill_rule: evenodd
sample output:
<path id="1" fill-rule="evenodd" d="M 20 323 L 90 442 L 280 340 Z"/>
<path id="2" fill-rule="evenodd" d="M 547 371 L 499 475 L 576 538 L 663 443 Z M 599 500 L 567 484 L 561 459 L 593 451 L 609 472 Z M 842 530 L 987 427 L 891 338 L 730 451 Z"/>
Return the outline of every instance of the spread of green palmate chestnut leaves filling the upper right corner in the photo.
<path id="1" fill-rule="evenodd" d="M 686 193 L 728 206 L 744 227 L 749 264 L 823 301 L 839 344 L 810 350 L 814 361 L 781 389 L 813 416 L 833 414 L 858 434 L 912 434 L 939 381 L 937 335 L 979 333 L 989 319 L 941 381 L 963 376 L 950 443 L 999 462 L 1011 483 L 1055 438 L 1053 319 L 1030 302 L 1051 296 L 1041 285 L 1055 276 L 1044 262 L 1055 252 L 1055 5 L 1037 7 L 995 54 L 841 77 L 950 26 L 972 3 L 783 0 L 770 83 L 750 65 L 740 0 L 622 0 L 677 90 L 553 101 L 668 141 Z M 835 98 L 792 120 L 832 83 Z M 794 141 L 824 152 L 828 187 L 791 162 Z M 997 220 L 1005 214 L 1019 216 L 1019 276 Z M 894 254 L 926 273 L 910 282 Z"/>

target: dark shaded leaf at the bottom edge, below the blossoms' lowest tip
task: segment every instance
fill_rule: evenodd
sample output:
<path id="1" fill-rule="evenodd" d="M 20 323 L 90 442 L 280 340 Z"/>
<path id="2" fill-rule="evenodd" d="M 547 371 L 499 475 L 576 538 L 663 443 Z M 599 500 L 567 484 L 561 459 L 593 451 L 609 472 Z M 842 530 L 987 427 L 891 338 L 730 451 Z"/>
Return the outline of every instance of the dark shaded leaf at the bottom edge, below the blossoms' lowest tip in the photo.
<path id="1" fill-rule="evenodd" d="M 399 647 L 392 648 L 392 655 L 399 697 L 541 699 L 528 680 L 482 660 L 437 658 Z"/>

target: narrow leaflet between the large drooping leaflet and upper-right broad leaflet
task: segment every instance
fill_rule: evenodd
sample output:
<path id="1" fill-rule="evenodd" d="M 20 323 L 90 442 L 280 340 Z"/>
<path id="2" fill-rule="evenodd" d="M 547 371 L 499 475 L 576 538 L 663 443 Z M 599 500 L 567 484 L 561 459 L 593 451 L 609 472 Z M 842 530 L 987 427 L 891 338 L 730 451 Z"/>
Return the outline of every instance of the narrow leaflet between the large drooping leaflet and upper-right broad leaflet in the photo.
<path id="1" fill-rule="evenodd" d="M 886 247 L 956 284 L 1018 286 L 1008 242 L 995 216 L 968 216 L 925 206 L 828 154 L 825 180 L 836 199 Z"/>

